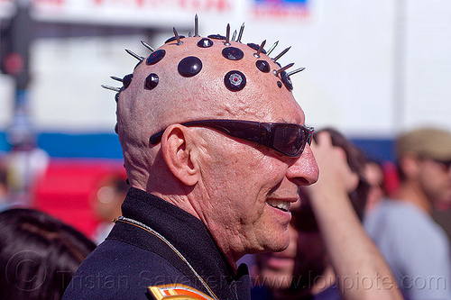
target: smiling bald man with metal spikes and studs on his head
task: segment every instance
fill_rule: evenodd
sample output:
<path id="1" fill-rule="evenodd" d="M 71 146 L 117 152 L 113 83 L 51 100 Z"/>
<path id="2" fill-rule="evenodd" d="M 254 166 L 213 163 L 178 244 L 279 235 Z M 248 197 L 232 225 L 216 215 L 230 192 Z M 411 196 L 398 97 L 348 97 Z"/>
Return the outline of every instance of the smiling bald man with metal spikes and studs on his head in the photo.
<path id="1" fill-rule="evenodd" d="M 157 50 L 143 42 L 146 58 L 129 50 L 133 74 L 105 86 L 130 189 L 64 299 L 248 299 L 236 261 L 288 246 L 290 205 L 318 179 L 291 92 L 301 69 L 287 73 L 242 30 L 203 38 L 195 24 Z"/>

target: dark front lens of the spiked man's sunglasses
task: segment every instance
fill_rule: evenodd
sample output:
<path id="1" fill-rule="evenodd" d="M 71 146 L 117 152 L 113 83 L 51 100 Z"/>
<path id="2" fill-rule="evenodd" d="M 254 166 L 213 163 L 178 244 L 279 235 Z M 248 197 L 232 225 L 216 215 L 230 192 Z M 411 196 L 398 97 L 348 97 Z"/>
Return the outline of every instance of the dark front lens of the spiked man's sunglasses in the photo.
<path id="1" fill-rule="evenodd" d="M 306 133 L 294 125 L 279 125 L 274 129 L 273 147 L 290 156 L 299 155 L 305 146 Z"/>

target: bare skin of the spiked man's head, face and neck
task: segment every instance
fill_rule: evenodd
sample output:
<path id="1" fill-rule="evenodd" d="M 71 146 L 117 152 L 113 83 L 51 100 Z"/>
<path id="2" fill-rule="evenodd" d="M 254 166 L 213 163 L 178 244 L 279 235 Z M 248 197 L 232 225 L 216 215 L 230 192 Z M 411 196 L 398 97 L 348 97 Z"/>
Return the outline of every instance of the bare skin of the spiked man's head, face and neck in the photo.
<path id="1" fill-rule="evenodd" d="M 244 59 L 234 61 L 222 56 L 224 41 L 201 49 L 199 39 L 165 44 L 160 62 L 135 69 L 131 86 L 118 101 L 118 134 L 131 186 L 198 217 L 235 267 L 246 253 L 288 246 L 290 211 L 274 203 L 298 201 L 298 187 L 317 181 L 318 166 L 308 145 L 299 158 L 290 158 L 222 132 L 179 124 L 207 119 L 305 123 L 291 91 L 277 85 L 280 78 L 255 67 L 255 50 L 232 41 L 244 51 Z M 181 77 L 179 60 L 191 55 L 202 61 L 202 70 L 195 77 Z M 280 68 L 263 54 L 260 59 Z M 238 92 L 224 84 L 224 75 L 234 69 L 247 79 Z M 145 90 L 150 73 L 160 82 Z M 150 145 L 152 134 L 165 128 L 161 143 Z"/>

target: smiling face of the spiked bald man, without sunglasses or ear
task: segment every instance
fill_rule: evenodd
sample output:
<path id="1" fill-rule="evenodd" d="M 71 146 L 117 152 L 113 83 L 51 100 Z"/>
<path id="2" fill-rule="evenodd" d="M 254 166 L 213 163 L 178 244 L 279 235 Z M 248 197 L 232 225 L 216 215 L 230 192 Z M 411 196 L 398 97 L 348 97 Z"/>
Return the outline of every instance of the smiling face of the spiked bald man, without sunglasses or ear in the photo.
<path id="1" fill-rule="evenodd" d="M 272 114 L 261 121 L 303 124 L 304 114 L 294 99 L 281 100 L 272 98 Z M 255 121 L 255 115 L 246 120 Z M 285 249 L 289 209 L 299 199 L 298 188 L 318 179 L 309 146 L 299 158 L 290 158 L 253 142 L 201 130 L 208 153 L 201 166 L 203 185 L 213 216 L 207 223 L 219 229 L 219 246 L 235 259 L 245 253 Z"/>

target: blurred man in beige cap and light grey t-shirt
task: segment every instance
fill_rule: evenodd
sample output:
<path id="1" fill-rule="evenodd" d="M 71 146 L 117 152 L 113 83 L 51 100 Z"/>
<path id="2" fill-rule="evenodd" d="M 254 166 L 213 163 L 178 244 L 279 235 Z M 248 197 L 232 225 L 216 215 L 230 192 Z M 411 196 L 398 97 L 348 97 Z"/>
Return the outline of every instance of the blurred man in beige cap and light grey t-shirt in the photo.
<path id="1" fill-rule="evenodd" d="M 451 299 L 446 233 L 431 218 L 451 195 L 451 133 L 419 128 L 396 141 L 400 187 L 365 218 L 365 229 L 409 299 Z"/>

